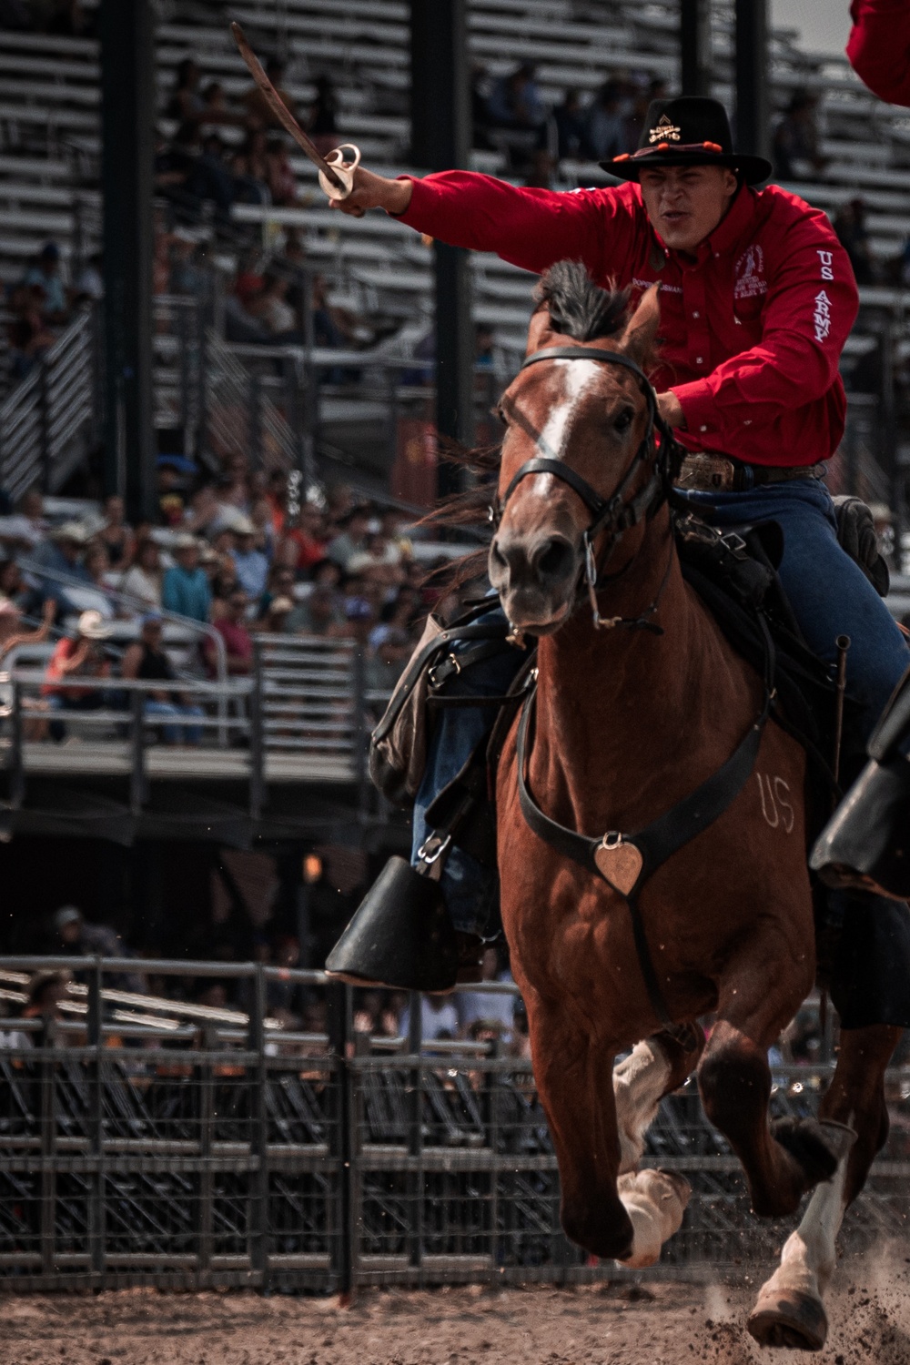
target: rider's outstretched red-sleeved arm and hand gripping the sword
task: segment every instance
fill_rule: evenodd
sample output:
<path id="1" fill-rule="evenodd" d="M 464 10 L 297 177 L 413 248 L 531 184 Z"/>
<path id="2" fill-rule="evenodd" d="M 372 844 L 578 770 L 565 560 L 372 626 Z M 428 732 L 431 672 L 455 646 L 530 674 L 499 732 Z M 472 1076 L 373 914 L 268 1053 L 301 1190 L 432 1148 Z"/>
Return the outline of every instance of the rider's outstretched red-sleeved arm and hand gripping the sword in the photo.
<path id="1" fill-rule="evenodd" d="M 528 190 L 472 171 L 387 180 L 359 168 L 342 213 L 385 209 L 454 247 L 495 251 L 539 274 L 555 261 L 581 261 L 596 280 L 622 273 L 641 228 L 630 184 L 615 190 Z M 637 222 L 637 228 L 636 228 Z"/>

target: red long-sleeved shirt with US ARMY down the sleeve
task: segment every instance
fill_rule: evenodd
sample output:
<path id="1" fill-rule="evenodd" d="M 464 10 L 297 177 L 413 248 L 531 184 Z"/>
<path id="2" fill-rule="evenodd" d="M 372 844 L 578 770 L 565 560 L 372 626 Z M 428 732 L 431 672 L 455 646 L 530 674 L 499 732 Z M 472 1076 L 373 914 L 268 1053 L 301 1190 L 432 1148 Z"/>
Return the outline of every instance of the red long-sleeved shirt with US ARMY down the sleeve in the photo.
<path id="1" fill-rule="evenodd" d="M 401 220 L 525 270 L 583 261 L 598 284 L 630 287 L 633 300 L 659 281 L 652 379 L 679 399 L 689 449 L 795 465 L 838 448 L 838 362 L 857 285 L 824 213 L 786 190 L 739 190 L 694 258 L 663 244 L 634 182 L 558 192 L 445 171 L 413 182 Z"/>

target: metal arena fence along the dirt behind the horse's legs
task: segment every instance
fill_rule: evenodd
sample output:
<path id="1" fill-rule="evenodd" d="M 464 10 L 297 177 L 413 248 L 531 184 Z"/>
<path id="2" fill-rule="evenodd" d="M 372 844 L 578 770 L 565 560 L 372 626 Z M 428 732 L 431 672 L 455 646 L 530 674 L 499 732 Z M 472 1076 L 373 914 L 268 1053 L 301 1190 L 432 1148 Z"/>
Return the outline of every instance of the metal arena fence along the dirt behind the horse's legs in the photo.
<path id="1" fill-rule="evenodd" d="M 370 1037 L 352 1028 L 349 987 L 248 964 L 7 958 L 0 999 L 20 1002 L 27 973 L 64 962 L 78 980 L 61 1020 L 0 1021 L 8 1290 L 146 1282 L 326 1293 L 632 1274 L 562 1235 L 531 1063 L 491 1031 L 475 1043 L 424 1041 L 412 998 L 405 1037 Z M 184 999 L 119 988 L 136 966 Z M 233 979 L 243 1009 L 188 1003 L 211 977 Z M 296 992 L 307 1032 L 270 1018 L 276 992 Z M 775 1111 L 810 1112 L 828 1076 L 778 1067 Z M 890 1076 L 890 1092 L 892 1140 L 847 1218 L 854 1245 L 906 1235 L 910 1070 Z M 652 1276 L 771 1260 L 793 1227 L 750 1216 L 738 1163 L 693 1085 L 664 1100 L 645 1162 L 693 1183 Z"/>

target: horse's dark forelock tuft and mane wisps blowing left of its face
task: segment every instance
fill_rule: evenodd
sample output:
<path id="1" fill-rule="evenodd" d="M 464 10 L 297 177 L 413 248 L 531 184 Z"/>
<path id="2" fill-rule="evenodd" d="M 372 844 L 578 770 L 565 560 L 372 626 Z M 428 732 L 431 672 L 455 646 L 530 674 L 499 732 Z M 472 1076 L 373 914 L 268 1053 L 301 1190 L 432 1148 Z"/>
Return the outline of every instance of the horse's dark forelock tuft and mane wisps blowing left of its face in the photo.
<path id="1" fill-rule="evenodd" d="M 573 341 L 615 336 L 622 330 L 629 310 L 629 291 L 602 289 L 580 261 L 557 261 L 551 265 L 540 276 L 533 298 L 538 308 L 543 306 L 550 314 L 553 330 Z M 464 493 L 443 498 L 419 524 L 434 530 L 472 527 L 487 531 L 484 549 L 427 576 L 437 581 L 441 577 L 446 591 L 457 591 L 486 572 L 486 545 L 491 539 L 487 511 L 491 497 L 495 497 L 495 483 L 491 479 L 499 468 L 501 445 L 469 450 L 446 442 L 441 444 L 439 455 L 447 464 L 465 470 L 472 486 Z"/>

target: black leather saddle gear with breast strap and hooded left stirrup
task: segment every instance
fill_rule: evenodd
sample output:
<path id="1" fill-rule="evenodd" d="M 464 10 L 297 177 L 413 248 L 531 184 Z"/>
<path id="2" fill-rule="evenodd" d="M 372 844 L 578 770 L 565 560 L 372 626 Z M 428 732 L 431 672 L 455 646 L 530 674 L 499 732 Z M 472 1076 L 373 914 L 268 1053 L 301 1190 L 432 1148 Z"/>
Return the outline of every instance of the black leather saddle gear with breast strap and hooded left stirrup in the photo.
<path id="1" fill-rule="evenodd" d="M 817 659 L 805 644 L 780 586 L 776 573 L 783 553 L 780 528 L 769 521 L 720 534 L 686 508 L 685 515 L 675 515 L 674 530 L 685 579 L 714 614 L 730 644 L 765 681 L 765 706 L 753 733 L 759 734 L 765 718 L 774 715 L 809 755 L 812 790 L 806 793 L 806 804 L 810 812 L 808 823 L 813 826 L 814 838 L 839 794 L 831 763 L 838 730 L 836 688 L 830 666 Z M 439 886 L 439 871 L 449 850 L 456 846 L 495 870 L 495 771 L 518 708 L 523 708 L 520 732 L 524 728 L 527 734 L 536 682 L 535 654 L 531 651 L 506 696 L 446 696 L 450 678 L 469 673 L 473 662 L 514 647 L 508 637 L 510 628 L 505 620 L 478 620 L 490 612 L 491 605 L 488 598 L 483 599 L 447 628 L 442 622 L 428 627 L 386 715 L 374 732 L 371 775 L 386 796 L 407 805 L 413 801 L 422 777 L 432 710 L 446 704 L 498 707 L 488 741 L 478 744 L 457 777 L 438 793 L 427 811 L 427 823 L 434 833 L 420 849 L 419 865 L 411 867 L 401 857 L 390 859 L 329 956 L 326 969 L 345 980 L 385 981 L 409 990 L 445 991 L 454 986 L 458 953 Z M 846 719 L 845 733 L 853 736 L 851 717 Z M 640 833 L 639 842 L 644 841 L 645 852 L 648 841 L 654 845 L 651 863 L 669 856 L 667 850 L 671 850 L 679 837 L 685 841 L 686 829 L 689 835 L 697 831 L 711 809 L 726 808 L 754 762 L 754 755 L 748 752 L 750 743 L 745 741 L 724 768 L 708 779 L 704 789 L 693 793 L 693 800 L 697 797 L 696 804 L 704 809 L 688 812 L 692 816 L 688 823 L 685 818 L 678 819 L 681 812 L 685 816 L 682 808 L 686 803 L 681 803 L 662 820 Z M 416 766 L 412 762 L 415 744 L 420 755 Z M 847 747 L 857 749 L 853 740 L 849 740 Z M 858 752 L 862 752 L 861 747 Z M 525 805 L 527 800 L 523 801 L 523 809 Z M 525 809 L 525 818 L 532 805 L 533 803 Z M 538 815 L 546 820 L 543 812 Z M 662 829 L 667 820 L 674 820 L 684 835 L 679 829 L 674 829 L 673 837 L 667 839 L 666 830 Z M 554 831 L 569 834 L 553 826 L 543 837 L 553 842 Z M 580 835 L 572 837 L 580 844 L 591 842 Z M 584 852 L 585 857 L 589 853 L 598 863 L 598 849 Z M 608 854 L 615 852 L 615 848 L 607 849 Z M 570 856 L 577 856 L 577 849 Z M 598 868 L 603 871 L 599 863 Z M 641 876 L 647 872 L 645 865 Z M 634 894 L 628 894 L 626 901 L 636 915 Z M 390 920 L 394 920 L 394 932 L 389 932 Z M 641 930 L 640 920 L 636 923 Z M 648 991 L 658 1017 L 662 1018 L 662 998 L 652 980 L 643 930 L 637 940 L 639 938 L 643 939 L 639 956 Z"/>

